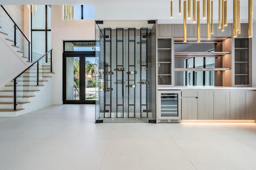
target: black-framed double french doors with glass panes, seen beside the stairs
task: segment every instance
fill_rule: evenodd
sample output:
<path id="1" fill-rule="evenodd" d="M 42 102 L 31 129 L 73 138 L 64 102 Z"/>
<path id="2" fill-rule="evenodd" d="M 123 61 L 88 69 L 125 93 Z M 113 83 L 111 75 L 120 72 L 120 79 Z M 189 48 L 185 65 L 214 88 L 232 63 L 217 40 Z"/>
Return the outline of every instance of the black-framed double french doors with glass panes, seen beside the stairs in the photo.
<path id="1" fill-rule="evenodd" d="M 63 103 L 95 104 L 98 100 L 98 66 L 94 52 L 63 55 Z"/>

